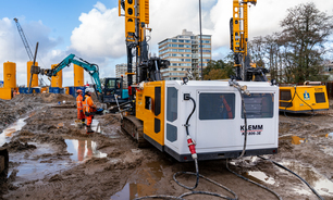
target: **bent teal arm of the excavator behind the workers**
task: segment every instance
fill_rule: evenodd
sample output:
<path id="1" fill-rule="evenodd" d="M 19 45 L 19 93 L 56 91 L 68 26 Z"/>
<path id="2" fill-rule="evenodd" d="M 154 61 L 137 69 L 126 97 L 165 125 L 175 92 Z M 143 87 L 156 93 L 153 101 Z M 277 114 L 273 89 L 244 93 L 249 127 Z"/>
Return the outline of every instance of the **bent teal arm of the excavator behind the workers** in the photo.
<path id="1" fill-rule="evenodd" d="M 75 54 L 67 55 L 64 60 L 62 60 L 55 67 L 49 68 L 40 68 L 40 73 L 42 75 L 47 75 L 49 77 L 55 76 L 58 72 L 62 71 L 64 67 L 70 66 L 70 64 L 76 64 L 83 67 L 94 79 L 96 89 L 101 93 L 101 83 L 99 79 L 99 68 L 97 64 L 89 63 L 83 59 L 75 59 Z"/>

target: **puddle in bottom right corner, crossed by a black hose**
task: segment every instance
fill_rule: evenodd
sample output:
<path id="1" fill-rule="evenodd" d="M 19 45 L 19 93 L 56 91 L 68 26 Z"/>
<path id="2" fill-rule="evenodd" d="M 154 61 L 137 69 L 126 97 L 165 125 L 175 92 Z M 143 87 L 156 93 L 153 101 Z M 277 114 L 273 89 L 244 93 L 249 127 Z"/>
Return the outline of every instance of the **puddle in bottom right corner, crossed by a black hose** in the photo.
<path id="1" fill-rule="evenodd" d="M 303 179 L 310 184 L 310 186 L 312 186 L 320 195 L 333 196 L 333 183 L 329 180 L 325 176 L 317 172 L 316 168 L 313 168 L 312 166 L 305 166 L 295 161 L 284 161 L 280 164 L 298 174 Z M 311 193 L 310 189 L 296 189 L 296 191 L 298 193 L 308 193 L 307 191 Z"/>

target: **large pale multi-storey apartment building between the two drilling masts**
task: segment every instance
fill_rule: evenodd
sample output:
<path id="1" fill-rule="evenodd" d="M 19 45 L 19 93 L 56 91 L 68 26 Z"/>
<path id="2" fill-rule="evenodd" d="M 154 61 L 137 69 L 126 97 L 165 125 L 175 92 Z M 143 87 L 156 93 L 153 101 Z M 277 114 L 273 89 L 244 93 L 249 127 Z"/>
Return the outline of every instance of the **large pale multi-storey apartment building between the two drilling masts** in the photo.
<path id="1" fill-rule="evenodd" d="M 173 80 L 187 76 L 187 71 L 201 73 L 200 35 L 183 29 L 182 35 L 166 38 L 159 43 L 159 57 L 170 61 L 161 70 L 163 79 Z M 211 35 L 202 35 L 202 68 L 211 60 Z"/>

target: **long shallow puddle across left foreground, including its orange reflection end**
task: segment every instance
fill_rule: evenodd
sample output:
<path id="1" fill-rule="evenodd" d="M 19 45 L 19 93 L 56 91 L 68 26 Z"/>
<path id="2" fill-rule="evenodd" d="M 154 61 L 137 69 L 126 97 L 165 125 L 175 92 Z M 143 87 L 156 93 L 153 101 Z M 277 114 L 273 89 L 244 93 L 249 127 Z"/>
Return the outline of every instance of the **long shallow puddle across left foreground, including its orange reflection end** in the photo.
<path id="1" fill-rule="evenodd" d="M 18 166 L 13 168 L 18 171 L 14 184 L 17 185 L 32 179 L 42 179 L 45 176 L 51 176 L 62 170 L 74 166 L 77 161 L 107 157 L 107 153 L 96 150 L 96 142 L 91 140 L 65 139 L 65 142 L 67 145 L 67 152 L 72 153 L 69 158 L 59 159 L 52 155 L 57 151 L 49 143 L 37 142 L 30 142 L 30 145 L 37 147 L 37 149 L 30 152 L 25 154 L 11 153 L 10 161 L 20 163 Z"/>

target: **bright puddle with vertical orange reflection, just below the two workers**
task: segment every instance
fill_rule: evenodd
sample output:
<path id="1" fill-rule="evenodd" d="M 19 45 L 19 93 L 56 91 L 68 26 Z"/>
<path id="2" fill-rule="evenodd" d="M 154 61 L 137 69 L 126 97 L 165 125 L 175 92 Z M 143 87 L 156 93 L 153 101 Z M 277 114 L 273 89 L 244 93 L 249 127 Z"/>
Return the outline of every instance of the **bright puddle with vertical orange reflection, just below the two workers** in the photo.
<path id="1" fill-rule="evenodd" d="M 65 139 L 67 152 L 73 161 L 84 161 L 91 158 L 107 158 L 107 153 L 96 150 L 96 142 L 90 139 Z"/>

